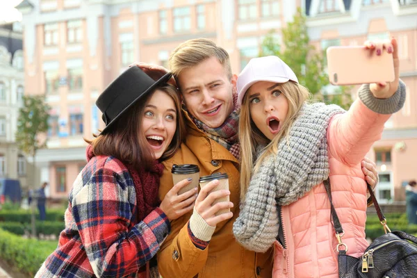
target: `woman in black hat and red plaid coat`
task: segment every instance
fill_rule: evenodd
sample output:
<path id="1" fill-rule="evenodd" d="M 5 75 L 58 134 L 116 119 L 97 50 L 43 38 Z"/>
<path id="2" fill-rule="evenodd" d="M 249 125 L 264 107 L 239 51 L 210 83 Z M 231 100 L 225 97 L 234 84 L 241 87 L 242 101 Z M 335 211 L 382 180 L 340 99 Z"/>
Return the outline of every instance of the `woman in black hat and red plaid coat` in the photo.
<path id="1" fill-rule="evenodd" d="M 170 220 L 193 208 L 197 190 L 177 183 L 160 202 L 161 161 L 185 136 L 171 74 L 154 81 L 131 67 L 97 99 L 106 127 L 86 140 L 88 164 L 74 181 L 58 247 L 35 277 L 158 277 L 156 252 Z"/>

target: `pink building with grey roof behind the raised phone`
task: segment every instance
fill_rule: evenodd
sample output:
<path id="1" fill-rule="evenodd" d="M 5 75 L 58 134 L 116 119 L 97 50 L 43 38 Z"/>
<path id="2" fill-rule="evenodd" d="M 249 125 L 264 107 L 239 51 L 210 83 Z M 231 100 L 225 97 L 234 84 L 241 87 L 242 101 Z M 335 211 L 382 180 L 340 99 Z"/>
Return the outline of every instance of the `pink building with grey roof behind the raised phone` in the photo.
<path id="1" fill-rule="evenodd" d="M 404 200 L 404 186 L 417 179 L 417 1 L 306 1 L 309 37 L 317 49 L 362 45 L 366 40 L 398 41 L 400 78 L 407 85 L 404 108 L 386 122 L 382 139 L 368 157 L 377 163 L 379 202 Z"/>

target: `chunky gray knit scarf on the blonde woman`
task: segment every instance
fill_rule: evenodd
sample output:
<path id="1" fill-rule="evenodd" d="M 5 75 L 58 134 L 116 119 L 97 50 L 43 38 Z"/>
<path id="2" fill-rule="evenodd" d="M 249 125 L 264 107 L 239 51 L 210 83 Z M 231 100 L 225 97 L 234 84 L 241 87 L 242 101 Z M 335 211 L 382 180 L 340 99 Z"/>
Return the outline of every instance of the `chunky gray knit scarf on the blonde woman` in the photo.
<path id="1" fill-rule="evenodd" d="M 233 227 L 241 245 L 268 250 L 278 235 L 277 204 L 291 204 L 327 179 L 327 126 L 343 112 L 336 105 L 304 104 L 288 136 L 279 142 L 277 156 L 265 158 L 252 176 Z"/>

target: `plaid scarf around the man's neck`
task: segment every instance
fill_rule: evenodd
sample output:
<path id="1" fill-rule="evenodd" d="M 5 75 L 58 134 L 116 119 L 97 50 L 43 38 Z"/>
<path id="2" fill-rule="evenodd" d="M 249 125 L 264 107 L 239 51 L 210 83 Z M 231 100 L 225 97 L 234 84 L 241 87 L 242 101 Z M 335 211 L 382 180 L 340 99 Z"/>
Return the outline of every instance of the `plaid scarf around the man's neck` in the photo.
<path id="1" fill-rule="evenodd" d="M 236 107 L 236 102 L 238 100 L 238 95 L 234 94 L 233 96 L 233 104 L 234 104 L 234 111 L 227 117 L 224 123 L 216 128 L 211 128 L 204 124 L 204 122 L 197 120 L 193 115 L 190 115 L 191 120 L 195 123 L 195 125 L 206 135 L 208 138 L 215 140 L 220 145 L 225 147 L 234 157 L 239 159 L 240 157 L 240 144 L 238 138 L 238 127 L 239 127 L 239 111 L 240 107 Z M 186 107 L 184 107 L 186 110 Z M 187 111 L 187 110 L 186 110 Z"/>

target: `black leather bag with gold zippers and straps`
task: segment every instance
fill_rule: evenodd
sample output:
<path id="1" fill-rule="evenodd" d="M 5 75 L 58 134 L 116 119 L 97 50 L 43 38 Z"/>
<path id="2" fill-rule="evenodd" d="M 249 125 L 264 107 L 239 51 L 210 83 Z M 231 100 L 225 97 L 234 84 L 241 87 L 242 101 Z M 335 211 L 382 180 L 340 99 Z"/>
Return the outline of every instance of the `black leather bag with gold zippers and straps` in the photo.
<path id="1" fill-rule="evenodd" d="M 332 190 L 330 179 L 324 181 L 327 196 L 329 197 L 332 211 L 332 220 L 336 231 L 338 245 L 338 275 L 341 278 L 373 277 L 392 278 L 405 277 L 417 278 L 417 238 L 404 231 L 392 231 L 386 225 L 384 214 L 373 190 L 368 184 L 370 198 L 377 210 L 379 221 L 384 227 L 385 234 L 375 238 L 373 243 L 363 252 L 359 258 L 348 256 L 347 245 L 342 242 L 343 229 L 338 220 L 336 210 L 332 202 Z"/>

